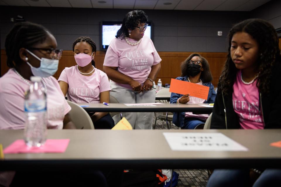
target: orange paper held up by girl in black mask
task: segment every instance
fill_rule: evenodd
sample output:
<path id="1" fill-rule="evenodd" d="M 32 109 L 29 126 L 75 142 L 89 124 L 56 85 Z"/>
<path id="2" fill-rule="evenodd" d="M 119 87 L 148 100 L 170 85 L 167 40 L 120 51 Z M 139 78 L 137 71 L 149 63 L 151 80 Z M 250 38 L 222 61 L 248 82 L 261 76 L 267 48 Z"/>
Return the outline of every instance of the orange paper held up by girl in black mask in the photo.
<path id="1" fill-rule="evenodd" d="M 210 88 L 208 86 L 171 79 L 170 92 L 179 93 L 183 95 L 189 93 L 191 96 L 207 100 L 209 89 Z"/>

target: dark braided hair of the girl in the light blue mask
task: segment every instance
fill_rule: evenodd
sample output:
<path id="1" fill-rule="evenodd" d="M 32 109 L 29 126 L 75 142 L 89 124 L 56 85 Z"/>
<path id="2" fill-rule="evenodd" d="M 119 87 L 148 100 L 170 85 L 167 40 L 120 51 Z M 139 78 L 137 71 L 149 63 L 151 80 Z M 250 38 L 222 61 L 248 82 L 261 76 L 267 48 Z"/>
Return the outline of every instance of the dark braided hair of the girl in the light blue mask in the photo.
<path id="1" fill-rule="evenodd" d="M 51 33 L 42 25 L 31 22 L 16 23 L 5 40 L 7 66 L 16 68 L 23 62 L 19 55 L 20 48 L 28 49 L 34 44 L 43 43 L 48 34 Z"/>

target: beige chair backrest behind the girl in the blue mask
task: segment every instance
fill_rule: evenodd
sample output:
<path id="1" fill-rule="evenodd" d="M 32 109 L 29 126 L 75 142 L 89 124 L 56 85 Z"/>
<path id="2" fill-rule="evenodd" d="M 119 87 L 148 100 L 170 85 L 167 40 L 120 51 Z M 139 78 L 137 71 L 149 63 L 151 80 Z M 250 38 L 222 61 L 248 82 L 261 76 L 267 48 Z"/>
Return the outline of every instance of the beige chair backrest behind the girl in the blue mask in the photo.
<path id="1" fill-rule="evenodd" d="M 67 101 L 71 106 L 69 115 L 77 129 L 95 129 L 90 115 L 78 104 Z"/>

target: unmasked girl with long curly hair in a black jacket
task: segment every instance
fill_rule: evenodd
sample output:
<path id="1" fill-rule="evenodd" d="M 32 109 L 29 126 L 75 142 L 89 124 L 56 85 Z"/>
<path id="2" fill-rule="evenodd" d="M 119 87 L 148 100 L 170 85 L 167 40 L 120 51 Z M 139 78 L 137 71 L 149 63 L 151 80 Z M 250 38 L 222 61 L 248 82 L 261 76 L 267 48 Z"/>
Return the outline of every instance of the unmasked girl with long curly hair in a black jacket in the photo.
<path id="1" fill-rule="evenodd" d="M 281 55 L 274 27 L 261 19 L 244 20 L 228 39 L 211 129 L 281 128 Z M 249 171 L 261 173 L 254 187 L 281 183 L 281 169 L 215 169 L 207 186 L 249 186 Z"/>

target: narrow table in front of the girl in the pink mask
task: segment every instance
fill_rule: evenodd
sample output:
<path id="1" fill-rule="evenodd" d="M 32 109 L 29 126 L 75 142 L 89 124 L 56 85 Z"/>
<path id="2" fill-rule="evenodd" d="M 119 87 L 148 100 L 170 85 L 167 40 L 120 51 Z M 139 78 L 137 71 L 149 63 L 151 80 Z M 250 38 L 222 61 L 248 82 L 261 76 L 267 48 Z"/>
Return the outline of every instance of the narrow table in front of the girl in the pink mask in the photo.
<path id="1" fill-rule="evenodd" d="M 193 112 L 196 114 L 210 114 L 213 110 L 211 107 L 205 107 L 198 104 L 176 104 L 165 103 L 155 104 L 153 106 L 127 106 L 123 103 L 77 103 L 86 105 L 83 107 L 87 112 Z M 208 104 L 205 104 L 206 106 Z"/>

